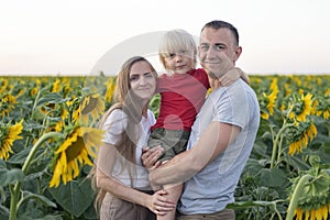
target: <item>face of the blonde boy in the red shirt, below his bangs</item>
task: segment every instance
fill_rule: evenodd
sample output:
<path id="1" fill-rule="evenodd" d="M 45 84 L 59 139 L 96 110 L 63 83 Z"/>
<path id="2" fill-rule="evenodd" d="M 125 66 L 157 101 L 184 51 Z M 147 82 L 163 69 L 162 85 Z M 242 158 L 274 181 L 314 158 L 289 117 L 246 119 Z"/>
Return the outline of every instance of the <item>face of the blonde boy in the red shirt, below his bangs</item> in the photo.
<path id="1" fill-rule="evenodd" d="M 164 56 L 166 69 L 175 74 L 186 74 L 194 68 L 194 52 L 180 50 L 177 53 L 168 53 Z"/>

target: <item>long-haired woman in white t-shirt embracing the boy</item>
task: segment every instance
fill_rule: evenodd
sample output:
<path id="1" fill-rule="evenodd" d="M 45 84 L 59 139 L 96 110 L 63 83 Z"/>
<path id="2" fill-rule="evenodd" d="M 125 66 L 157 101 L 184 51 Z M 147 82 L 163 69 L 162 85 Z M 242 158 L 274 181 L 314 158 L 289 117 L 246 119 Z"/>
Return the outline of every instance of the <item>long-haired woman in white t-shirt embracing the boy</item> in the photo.
<path id="1" fill-rule="evenodd" d="M 156 72 L 143 57 L 127 61 L 117 79 L 118 103 L 100 121 L 106 131 L 96 163 L 100 219 L 155 219 L 175 209 L 166 191 L 151 190 L 141 163 L 150 128 L 155 123 L 148 101 L 155 92 Z"/>

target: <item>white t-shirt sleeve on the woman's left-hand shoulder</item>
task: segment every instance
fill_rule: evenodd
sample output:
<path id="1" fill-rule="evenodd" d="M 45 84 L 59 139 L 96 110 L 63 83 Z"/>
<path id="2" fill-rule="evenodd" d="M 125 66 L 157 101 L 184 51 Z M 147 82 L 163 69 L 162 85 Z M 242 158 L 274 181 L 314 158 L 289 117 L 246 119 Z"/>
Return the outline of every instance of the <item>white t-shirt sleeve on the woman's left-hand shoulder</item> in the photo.
<path id="1" fill-rule="evenodd" d="M 127 128 L 127 114 L 120 109 L 113 110 L 103 124 L 102 129 L 106 131 L 106 135 L 102 141 L 108 144 L 118 144 L 121 140 L 122 132 Z"/>

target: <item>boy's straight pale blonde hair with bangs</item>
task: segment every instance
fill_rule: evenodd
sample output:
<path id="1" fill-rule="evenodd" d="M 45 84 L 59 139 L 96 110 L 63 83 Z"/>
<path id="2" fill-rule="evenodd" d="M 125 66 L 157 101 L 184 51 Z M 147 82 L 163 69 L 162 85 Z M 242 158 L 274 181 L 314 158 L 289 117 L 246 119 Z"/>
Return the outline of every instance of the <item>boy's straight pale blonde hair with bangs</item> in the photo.
<path id="1" fill-rule="evenodd" d="M 164 68 L 166 68 L 165 57 L 168 57 L 172 53 L 179 53 L 180 51 L 193 52 L 195 68 L 197 46 L 193 35 L 180 29 L 166 32 L 158 47 L 160 59 Z"/>

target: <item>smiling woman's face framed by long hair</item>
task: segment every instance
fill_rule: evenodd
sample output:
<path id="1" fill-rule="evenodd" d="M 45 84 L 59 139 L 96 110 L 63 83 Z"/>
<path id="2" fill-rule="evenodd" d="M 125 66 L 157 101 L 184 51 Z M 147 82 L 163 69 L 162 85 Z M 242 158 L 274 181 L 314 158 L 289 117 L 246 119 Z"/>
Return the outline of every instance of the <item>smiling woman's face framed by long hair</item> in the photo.
<path id="1" fill-rule="evenodd" d="M 151 99 L 156 90 L 156 77 L 146 62 L 133 64 L 130 73 L 132 91 L 142 99 Z"/>

